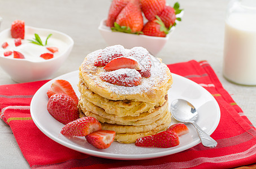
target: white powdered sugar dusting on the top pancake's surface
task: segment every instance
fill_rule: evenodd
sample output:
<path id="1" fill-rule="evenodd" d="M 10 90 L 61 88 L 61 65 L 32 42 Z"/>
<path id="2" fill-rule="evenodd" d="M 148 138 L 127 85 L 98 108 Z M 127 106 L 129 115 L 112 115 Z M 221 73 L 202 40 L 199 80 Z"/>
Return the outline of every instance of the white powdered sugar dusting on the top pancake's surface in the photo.
<path id="1" fill-rule="evenodd" d="M 136 48 L 137 50 L 133 52 L 133 56 L 135 58 L 136 58 L 136 55 L 140 53 L 140 51 L 145 52 L 145 48 L 142 48 L 142 47 L 136 47 Z M 125 51 L 127 56 L 129 56 L 128 54 L 129 52 L 131 52 L 131 50 L 125 49 Z M 86 61 L 83 63 L 84 71 L 86 71 L 86 69 L 90 67 L 91 69 L 102 69 L 102 72 L 107 72 L 106 70 L 103 70 L 102 67 L 94 66 L 94 62 L 96 61 L 99 54 L 101 54 L 101 52 L 102 50 L 97 50 L 88 54 L 88 56 L 86 56 Z M 150 54 L 147 54 L 144 56 L 148 57 L 148 60 L 151 62 L 151 66 L 150 66 L 151 75 L 148 78 L 145 78 L 142 76 L 141 83 L 138 86 L 132 86 L 132 87 L 118 86 L 116 84 L 102 81 L 102 79 L 99 78 L 99 74 L 89 74 L 88 76 L 91 79 L 93 79 L 95 84 L 102 86 L 103 88 L 107 88 L 109 91 L 118 95 L 141 94 L 142 92 L 153 92 L 154 90 L 159 90 L 159 86 L 165 85 L 165 83 L 167 83 L 168 80 L 170 79 L 170 75 L 167 75 L 167 71 L 169 71 L 169 69 L 167 68 L 166 64 L 163 64 L 158 58 Z"/>

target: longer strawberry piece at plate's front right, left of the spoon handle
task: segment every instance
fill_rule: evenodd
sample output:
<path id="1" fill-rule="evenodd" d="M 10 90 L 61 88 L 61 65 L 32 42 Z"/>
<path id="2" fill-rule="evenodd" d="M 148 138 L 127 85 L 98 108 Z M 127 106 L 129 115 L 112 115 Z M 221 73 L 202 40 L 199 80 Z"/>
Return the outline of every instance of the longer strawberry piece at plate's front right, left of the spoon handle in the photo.
<path id="1" fill-rule="evenodd" d="M 135 142 L 137 146 L 158 148 L 170 148 L 179 144 L 179 136 L 174 131 L 162 131 L 155 135 L 140 137 Z"/>

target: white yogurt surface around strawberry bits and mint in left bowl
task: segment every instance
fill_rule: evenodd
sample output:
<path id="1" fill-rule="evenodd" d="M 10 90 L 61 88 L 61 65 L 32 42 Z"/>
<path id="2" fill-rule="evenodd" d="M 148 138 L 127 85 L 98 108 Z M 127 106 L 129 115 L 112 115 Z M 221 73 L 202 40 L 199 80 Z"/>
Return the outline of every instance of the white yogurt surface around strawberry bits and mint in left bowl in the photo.
<path id="1" fill-rule="evenodd" d="M 45 43 L 46 36 L 38 34 L 42 40 L 42 43 Z M 21 54 L 24 55 L 25 59 L 30 61 L 43 61 L 42 57 L 40 55 L 45 53 L 51 53 L 49 50 L 47 50 L 46 47 L 58 47 L 59 51 L 55 52 L 53 55 L 54 57 L 58 57 L 60 54 L 62 54 L 63 51 L 66 50 L 68 47 L 68 44 L 61 41 L 60 39 L 54 38 L 54 33 L 51 35 L 51 37 L 47 40 L 46 46 L 36 45 L 33 43 L 30 43 L 28 39 L 33 39 L 34 34 L 25 34 L 25 38 L 21 39 L 21 45 L 15 46 L 14 44 L 14 38 L 7 37 L 0 40 L 0 57 L 10 57 L 13 58 L 13 54 L 10 56 L 4 56 L 3 53 L 5 51 L 18 51 Z M 1 46 L 4 42 L 8 43 L 7 48 L 3 49 Z"/>

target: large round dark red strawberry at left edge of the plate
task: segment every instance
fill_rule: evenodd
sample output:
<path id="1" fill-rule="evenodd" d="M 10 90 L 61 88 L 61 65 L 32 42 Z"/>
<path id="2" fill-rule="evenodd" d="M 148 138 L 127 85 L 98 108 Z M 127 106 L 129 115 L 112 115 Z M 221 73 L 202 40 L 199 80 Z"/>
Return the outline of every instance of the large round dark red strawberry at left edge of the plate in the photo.
<path id="1" fill-rule="evenodd" d="M 48 112 L 57 121 L 63 124 L 75 121 L 79 118 L 79 109 L 73 99 L 66 94 L 52 95 L 47 104 Z"/>

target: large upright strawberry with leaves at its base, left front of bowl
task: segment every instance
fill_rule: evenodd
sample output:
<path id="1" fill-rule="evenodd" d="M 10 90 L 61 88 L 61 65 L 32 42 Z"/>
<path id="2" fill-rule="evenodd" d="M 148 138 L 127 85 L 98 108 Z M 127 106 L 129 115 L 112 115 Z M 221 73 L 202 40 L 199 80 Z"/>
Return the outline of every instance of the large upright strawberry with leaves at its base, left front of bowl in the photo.
<path id="1" fill-rule="evenodd" d="M 115 28 L 119 32 L 140 33 L 143 28 L 140 0 L 131 0 L 116 18 Z"/>

